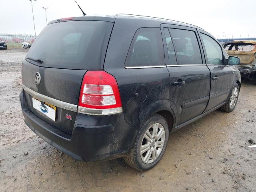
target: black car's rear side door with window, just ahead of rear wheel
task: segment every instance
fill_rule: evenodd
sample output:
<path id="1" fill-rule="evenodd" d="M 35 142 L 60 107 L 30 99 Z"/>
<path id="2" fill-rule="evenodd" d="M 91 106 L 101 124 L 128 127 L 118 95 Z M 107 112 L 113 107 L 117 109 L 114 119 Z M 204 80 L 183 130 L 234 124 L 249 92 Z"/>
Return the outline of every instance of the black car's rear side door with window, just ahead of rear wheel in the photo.
<path id="1" fill-rule="evenodd" d="M 177 126 L 204 112 L 210 94 L 210 71 L 196 29 L 162 24 L 161 30 Z"/>

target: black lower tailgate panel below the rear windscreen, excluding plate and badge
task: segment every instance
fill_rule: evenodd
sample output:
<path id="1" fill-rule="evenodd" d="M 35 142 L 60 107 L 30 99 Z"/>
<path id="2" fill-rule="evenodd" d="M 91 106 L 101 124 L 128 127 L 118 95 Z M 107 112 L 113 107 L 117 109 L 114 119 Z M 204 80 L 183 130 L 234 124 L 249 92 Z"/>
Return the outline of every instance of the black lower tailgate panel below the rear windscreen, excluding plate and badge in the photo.
<path id="1" fill-rule="evenodd" d="M 41 75 L 41 82 L 39 85 L 35 83 L 35 74 L 39 72 Z M 69 109 L 60 108 L 57 106 L 55 121 L 46 117 L 45 114 L 33 108 L 32 97 L 46 101 L 43 97 L 36 96 L 31 93 L 42 94 L 68 104 L 78 104 L 80 86 L 82 78 L 86 70 L 68 70 L 57 68 L 45 68 L 30 64 L 27 61 L 22 63 L 22 84 L 26 93 L 26 101 L 28 108 L 39 118 L 45 120 L 52 126 L 72 134 L 73 125 L 76 120 L 76 112 Z M 54 102 L 49 104 L 55 105 Z M 66 105 L 68 106 L 68 105 Z M 72 116 L 71 120 L 66 118 L 66 114 Z"/>

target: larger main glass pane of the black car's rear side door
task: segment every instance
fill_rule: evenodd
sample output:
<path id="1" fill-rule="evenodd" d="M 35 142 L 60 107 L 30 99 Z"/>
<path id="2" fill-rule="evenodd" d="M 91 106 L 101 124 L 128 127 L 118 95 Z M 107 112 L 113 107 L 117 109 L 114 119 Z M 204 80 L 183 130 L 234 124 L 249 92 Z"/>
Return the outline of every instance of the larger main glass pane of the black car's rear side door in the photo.
<path id="1" fill-rule="evenodd" d="M 170 29 L 179 64 L 202 64 L 198 40 L 194 31 Z"/>

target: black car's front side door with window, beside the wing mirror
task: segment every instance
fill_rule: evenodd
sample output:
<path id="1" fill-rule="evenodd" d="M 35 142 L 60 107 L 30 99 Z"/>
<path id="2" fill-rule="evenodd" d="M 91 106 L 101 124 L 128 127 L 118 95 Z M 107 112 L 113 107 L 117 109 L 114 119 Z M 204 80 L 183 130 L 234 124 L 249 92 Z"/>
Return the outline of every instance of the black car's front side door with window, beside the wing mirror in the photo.
<path id="1" fill-rule="evenodd" d="M 210 101 L 206 111 L 226 102 L 232 86 L 232 67 L 225 65 L 224 50 L 210 34 L 198 30 L 211 72 Z"/>

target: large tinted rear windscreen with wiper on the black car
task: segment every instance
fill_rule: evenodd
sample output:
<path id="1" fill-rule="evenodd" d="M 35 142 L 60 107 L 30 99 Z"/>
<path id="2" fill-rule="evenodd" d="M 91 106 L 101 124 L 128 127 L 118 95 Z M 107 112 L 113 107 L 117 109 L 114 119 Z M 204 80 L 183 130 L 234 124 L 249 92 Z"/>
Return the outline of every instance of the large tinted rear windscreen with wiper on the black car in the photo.
<path id="1" fill-rule="evenodd" d="M 42 60 L 36 65 L 97 70 L 103 68 L 113 23 L 68 21 L 46 26 L 31 46 L 26 58 Z"/>

